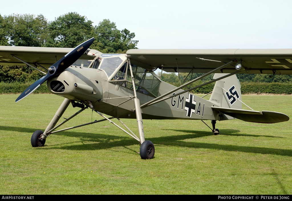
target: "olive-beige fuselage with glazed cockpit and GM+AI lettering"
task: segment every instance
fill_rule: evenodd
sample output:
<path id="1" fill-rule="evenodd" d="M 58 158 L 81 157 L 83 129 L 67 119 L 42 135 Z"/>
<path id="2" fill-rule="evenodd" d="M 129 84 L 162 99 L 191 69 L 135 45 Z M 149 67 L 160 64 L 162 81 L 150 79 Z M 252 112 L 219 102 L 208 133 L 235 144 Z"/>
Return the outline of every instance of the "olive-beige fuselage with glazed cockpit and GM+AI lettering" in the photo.
<path id="1" fill-rule="evenodd" d="M 132 65 L 132 71 L 140 105 L 176 88 L 144 68 Z M 47 87 L 51 93 L 70 100 L 83 103 L 90 100 L 95 110 L 106 115 L 136 118 L 130 66 L 125 54 L 101 54 L 89 67 L 72 65 L 48 80 Z M 212 106 L 218 105 L 186 92 L 142 108 L 142 118 L 219 120 Z"/>

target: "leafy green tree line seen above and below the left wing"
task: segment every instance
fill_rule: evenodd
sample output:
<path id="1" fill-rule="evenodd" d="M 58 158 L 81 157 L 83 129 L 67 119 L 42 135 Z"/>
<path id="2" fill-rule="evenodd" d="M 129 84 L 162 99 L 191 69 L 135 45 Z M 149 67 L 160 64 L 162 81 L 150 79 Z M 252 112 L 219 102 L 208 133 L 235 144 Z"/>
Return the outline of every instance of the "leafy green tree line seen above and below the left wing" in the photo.
<path id="1" fill-rule="evenodd" d="M 103 53 L 125 53 L 136 48 L 134 33 L 119 31 L 114 22 L 103 20 L 93 27 L 85 16 L 67 13 L 48 22 L 43 15 L 0 15 L 0 45 L 71 47 L 95 37 L 91 48 Z M 27 66 L 1 66 L 0 80 L 26 82 L 41 78 L 43 74 Z"/>

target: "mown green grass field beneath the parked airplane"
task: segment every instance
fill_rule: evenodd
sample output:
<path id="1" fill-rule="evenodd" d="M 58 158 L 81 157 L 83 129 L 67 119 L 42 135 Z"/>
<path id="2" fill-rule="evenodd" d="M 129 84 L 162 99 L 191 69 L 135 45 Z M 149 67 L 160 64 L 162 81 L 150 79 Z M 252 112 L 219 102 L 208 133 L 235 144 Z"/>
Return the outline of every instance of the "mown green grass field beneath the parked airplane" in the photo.
<path id="1" fill-rule="evenodd" d="M 52 134 L 32 148 L 32 133 L 44 131 L 63 98 L 17 97 L 0 95 L 0 194 L 292 194 L 291 120 L 221 121 L 218 136 L 201 121 L 144 120 L 155 156 L 142 160 L 138 142 L 109 122 Z M 242 100 L 292 117 L 292 96 Z M 77 110 L 69 106 L 64 117 Z M 91 110 L 77 117 L 61 129 L 100 119 Z M 123 121 L 138 133 L 135 119 Z"/>

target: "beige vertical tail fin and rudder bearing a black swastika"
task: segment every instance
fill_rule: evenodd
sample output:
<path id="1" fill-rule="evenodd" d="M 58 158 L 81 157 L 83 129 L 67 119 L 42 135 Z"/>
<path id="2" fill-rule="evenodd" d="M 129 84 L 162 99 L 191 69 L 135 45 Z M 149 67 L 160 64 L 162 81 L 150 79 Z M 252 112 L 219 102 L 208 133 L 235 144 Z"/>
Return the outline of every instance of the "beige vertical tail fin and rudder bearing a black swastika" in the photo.
<path id="1" fill-rule="evenodd" d="M 223 77 L 225 73 L 215 73 L 213 79 Z M 215 83 L 210 101 L 221 108 L 241 109 L 242 104 L 236 98 L 241 100 L 241 86 L 236 75 L 218 80 Z M 226 91 L 225 91 L 225 90 Z M 227 92 L 228 91 L 228 92 Z M 236 98 L 234 98 L 233 96 Z"/>

